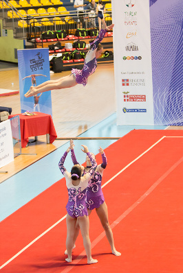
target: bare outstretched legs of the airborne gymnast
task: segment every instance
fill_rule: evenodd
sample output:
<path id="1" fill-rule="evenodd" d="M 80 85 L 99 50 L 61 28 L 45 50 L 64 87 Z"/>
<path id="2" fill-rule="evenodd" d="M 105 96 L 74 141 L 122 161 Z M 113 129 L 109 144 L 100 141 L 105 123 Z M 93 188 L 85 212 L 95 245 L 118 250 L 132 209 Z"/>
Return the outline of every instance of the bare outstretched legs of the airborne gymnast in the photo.
<path id="1" fill-rule="evenodd" d="M 29 90 L 24 96 L 25 97 L 32 97 L 38 93 L 43 93 L 46 91 L 50 91 L 53 89 L 63 89 L 75 86 L 77 84 L 76 78 L 73 74 L 67 75 L 63 78 L 63 80 L 54 80 L 54 81 L 47 81 L 43 84 L 36 86 L 32 86 L 31 90 Z"/>

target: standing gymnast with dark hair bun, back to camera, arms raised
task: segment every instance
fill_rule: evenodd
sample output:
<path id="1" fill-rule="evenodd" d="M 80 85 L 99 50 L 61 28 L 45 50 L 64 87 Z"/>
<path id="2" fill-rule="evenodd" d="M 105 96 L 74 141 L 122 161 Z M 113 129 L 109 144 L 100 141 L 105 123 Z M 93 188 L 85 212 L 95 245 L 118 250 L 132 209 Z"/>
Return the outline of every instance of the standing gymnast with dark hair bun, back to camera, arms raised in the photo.
<path id="1" fill-rule="evenodd" d="M 89 239 L 89 217 L 87 213 L 87 206 L 85 203 L 86 198 L 86 190 L 87 184 L 89 180 L 94 175 L 94 171 L 97 167 L 96 161 L 92 158 L 92 155 L 89 153 L 87 146 L 82 145 L 85 152 L 91 160 L 91 168 L 84 176 L 81 176 L 83 166 L 76 164 L 72 167 L 71 173 L 69 173 L 63 163 L 65 162 L 65 158 L 70 150 L 70 147 L 63 154 L 61 160 L 58 163 L 58 167 L 61 169 L 61 172 L 66 180 L 67 190 L 69 194 L 69 200 L 67 202 L 67 239 L 66 239 L 66 248 L 67 248 L 67 261 L 68 263 L 72 262 L 72 248 L 74 245 L 74 233 L 76 222 L 78 222 L 78 226 L 80 227 L 81 234 L 83 236 L 83 244 L 85 247 L 85 251 L 87 254 L 87 263 L 97 263 L 96 259 L 92 259 L 91 254 L 91 242 Z"/>

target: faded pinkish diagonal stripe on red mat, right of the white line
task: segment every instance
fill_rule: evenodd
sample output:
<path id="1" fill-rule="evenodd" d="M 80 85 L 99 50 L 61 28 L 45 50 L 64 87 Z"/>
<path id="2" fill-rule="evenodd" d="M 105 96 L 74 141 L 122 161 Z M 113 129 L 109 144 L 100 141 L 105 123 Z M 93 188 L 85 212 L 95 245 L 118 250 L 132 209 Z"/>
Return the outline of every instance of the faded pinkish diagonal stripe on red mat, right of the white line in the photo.
<path id="1" fill-rule="evenodd" d="M 153 189 L 155 189 L 160 184 L 160 182 L 162 182 L 162 180 L 166 178 L 166 176 L 169 176 L 171 171 L 173 171 L 178 165 L 180 165 L 182 161 L 183 156 L 182 158 L 180 158 L 179 161 L 177 161 L 173 166 L 171 166 L 170 169 L 168 169 L 168 171 L 166 171 L 160 178 L 158 178 L 158 180 L 156 180 L 154 184 L 136 202 L 129 206 L 129 209 L 127 209 L 124 213 L 122 213 L 122 215 L 120 215 L 120 217 L 118 217 L 112 224 L 110 224 L 111 229 L 117 226 L 117 224 L 119 224 L 122 221 L 122 219 L 124 219 L 129 213 L 131 213 L 131 211 L 133 211 L 133 209 L 135 209 L 136 206 L 138 206 L 138 204 L 140 204 L 145 198 L 147 198 L 147 196 L 153 191 Z M 94 248 L 94 246 L 96 246 L 96 244 L 98 244 L 98 242 L 101 241 L 103 237 L 105 237 L 105 231 L 103 231 L 103 233 L 100 233 L 100 235 L 98 235 L 98 237 L 94 239 L 94 241 L 92 241 L 91 248 Z M 86 255 L 85 250 L 83 250 L 83 252 L 81 252 L 78 255 L 78 257 L 80 256 L 85 257 L 85 255 Z M 72 268 L 74 268 L 76 264 L 78 264 L 83 259 L 83 257 L 82 258 L 78 257 L 74 261 L 72 261 L 71 266 L 67 266 L 67 268 L 62 270 L 61 273 L 68 273 L 70 270 L 72 270 Z"/>

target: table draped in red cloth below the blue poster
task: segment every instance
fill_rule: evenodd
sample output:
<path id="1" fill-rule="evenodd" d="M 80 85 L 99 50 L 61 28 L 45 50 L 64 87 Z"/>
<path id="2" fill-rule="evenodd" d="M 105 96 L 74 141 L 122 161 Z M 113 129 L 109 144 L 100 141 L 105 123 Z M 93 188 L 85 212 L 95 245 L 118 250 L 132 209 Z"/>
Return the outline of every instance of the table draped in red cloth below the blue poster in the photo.
<path id="1" fill-rule="evenodd" d="M 52 116 L 44 114 L 43 112 L 34 112 L 34 116 L 25 116 L 17 114 L 20 117 L 21 125 L 21 147 L 26 147 L 29 142 L 29 137 L 37 137 L 43 134 L 50 135 L 47 143 L 53 143 L 56 139 L 56 130 L 52 121 Z M 8 118 L 17 115 L 10 115 Z"/>

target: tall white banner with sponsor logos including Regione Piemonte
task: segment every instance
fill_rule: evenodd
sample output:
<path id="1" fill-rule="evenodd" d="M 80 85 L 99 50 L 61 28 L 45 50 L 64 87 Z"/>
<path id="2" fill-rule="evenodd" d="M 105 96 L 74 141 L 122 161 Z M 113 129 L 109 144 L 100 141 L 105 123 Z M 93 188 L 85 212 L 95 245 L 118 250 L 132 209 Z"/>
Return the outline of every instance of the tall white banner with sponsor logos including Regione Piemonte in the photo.
<path id="1" fill-rule="evenodd" d="M 153 125 L 149 0 L 111 3 L 117 125 Z"/>

